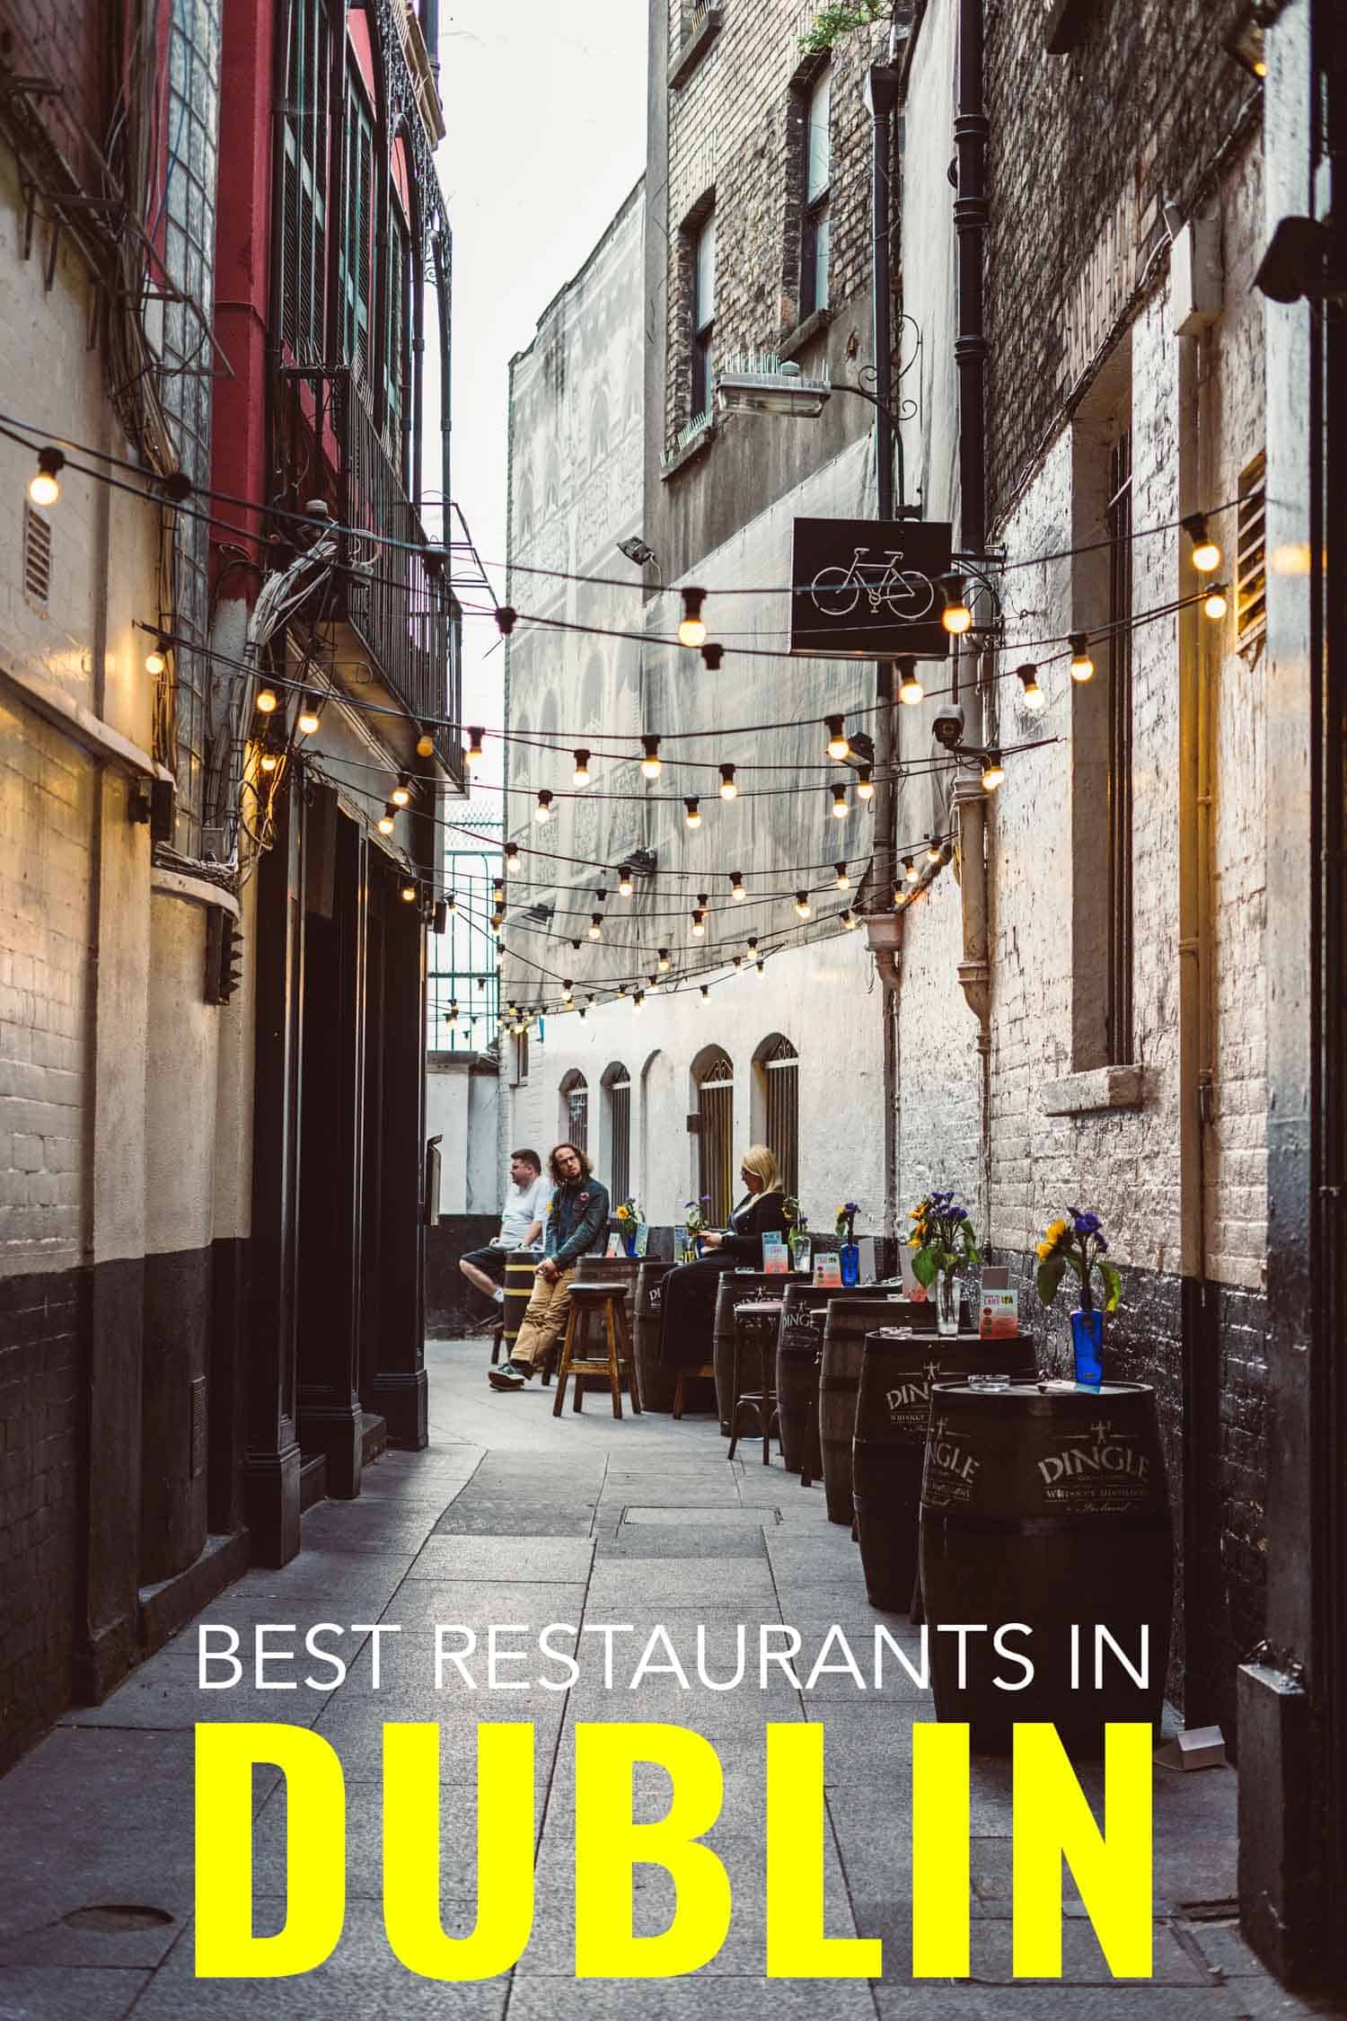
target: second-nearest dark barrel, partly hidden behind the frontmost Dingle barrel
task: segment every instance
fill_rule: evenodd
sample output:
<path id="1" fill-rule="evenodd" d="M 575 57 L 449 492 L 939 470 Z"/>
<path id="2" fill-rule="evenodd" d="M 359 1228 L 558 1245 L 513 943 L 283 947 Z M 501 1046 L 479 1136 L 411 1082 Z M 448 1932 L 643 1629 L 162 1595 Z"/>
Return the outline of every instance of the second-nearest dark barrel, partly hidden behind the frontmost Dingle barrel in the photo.
<path id="1" fill-rule="evenodd" d="M 1034 1378 L 1034 1342 L 977 1340 L 878 1328 L 864 1336 L 856 1439 L 852 1445 L 852 1500 L 856 1538 L 870 1607 L 903 1611 L 917 1582 L 917 1520 L 927 1419 L 935 1382 L 969 1374 Z"/>

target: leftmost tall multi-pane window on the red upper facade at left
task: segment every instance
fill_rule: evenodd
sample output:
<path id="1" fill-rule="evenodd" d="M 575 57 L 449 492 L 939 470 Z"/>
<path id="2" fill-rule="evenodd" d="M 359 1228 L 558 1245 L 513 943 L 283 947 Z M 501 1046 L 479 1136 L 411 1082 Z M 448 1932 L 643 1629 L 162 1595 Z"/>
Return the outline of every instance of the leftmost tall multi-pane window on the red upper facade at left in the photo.
<path id="1" fill-rule="evenodd" d="M 283 103 L 281 338 L 303 362 L 321 360 L 325 352 L 329 32 L 327 0 L 291 0 Z"/>

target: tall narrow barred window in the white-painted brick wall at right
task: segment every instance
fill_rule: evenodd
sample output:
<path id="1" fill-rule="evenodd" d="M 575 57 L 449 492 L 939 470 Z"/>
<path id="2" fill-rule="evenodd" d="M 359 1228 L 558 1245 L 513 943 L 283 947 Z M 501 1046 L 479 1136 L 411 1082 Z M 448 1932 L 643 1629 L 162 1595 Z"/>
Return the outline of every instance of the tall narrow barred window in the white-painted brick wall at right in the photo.
<path id="1" fill-rule="evenodd" d="M 1109 451 L 1109 1065 L 1131 1063 L 1131 428 Z"/>

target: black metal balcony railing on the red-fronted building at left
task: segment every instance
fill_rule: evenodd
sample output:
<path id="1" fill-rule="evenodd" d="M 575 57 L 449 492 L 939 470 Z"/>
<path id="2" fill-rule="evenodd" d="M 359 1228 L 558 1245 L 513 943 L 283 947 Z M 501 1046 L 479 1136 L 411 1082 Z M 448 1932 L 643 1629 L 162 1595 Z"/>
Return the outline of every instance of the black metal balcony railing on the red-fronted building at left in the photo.
<path id="1" fill-rule="evenodd" d="M 295 366 L 281 374 L 279 449 L 283 503 L 303 511 L 321 497 L 347 536 L 327 616 L 345 618 L 378 671 L 418 724 L 458 721 L 458 600 L 444 550 L 426 540 L 349 366 Z M 368 538 L 364 538 L 368 534 Z M 446 766 L 462 778 L 456 732 L 438 732 Z"/>

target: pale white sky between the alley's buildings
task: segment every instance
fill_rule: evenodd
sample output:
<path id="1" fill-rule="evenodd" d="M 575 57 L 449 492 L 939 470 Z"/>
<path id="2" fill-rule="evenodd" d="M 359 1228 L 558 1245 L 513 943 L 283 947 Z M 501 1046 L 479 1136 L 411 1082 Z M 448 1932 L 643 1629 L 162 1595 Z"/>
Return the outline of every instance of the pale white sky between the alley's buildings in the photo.
<path id="1" fill-rule="evenodd" d="M 440 95 L 448 135 L 436 168 L 454 234 L 452 491 L 503 596 L 509 360 L 644 168 L 646 4 L 440 0 Z M 501 721 L 495 639 L 495 624 L 464 618 L 464 717 L 485 726 Z M 499 764 L 481 776 L 499 778 Z"/>

